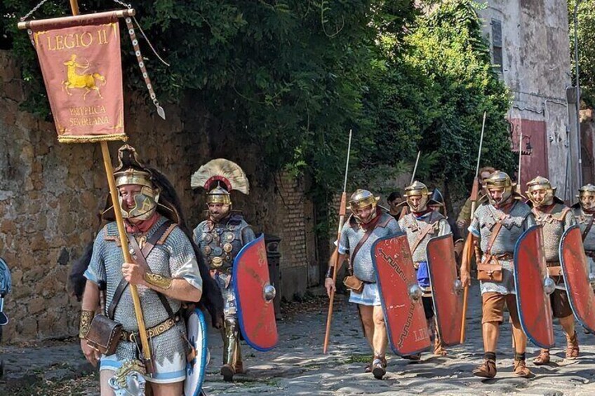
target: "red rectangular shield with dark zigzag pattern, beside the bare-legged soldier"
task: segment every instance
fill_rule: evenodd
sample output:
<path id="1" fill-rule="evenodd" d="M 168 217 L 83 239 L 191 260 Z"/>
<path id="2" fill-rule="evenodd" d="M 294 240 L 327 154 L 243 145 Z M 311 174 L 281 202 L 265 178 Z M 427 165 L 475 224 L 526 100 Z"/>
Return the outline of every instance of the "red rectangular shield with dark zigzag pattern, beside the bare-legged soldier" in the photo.
<path id="1" fill-rule="evenodd" d="M 372 262 L 387 334 L 394 353 L 414 355 L 431 346 L 407 235 L 380 238 L 372 245 Z"/>

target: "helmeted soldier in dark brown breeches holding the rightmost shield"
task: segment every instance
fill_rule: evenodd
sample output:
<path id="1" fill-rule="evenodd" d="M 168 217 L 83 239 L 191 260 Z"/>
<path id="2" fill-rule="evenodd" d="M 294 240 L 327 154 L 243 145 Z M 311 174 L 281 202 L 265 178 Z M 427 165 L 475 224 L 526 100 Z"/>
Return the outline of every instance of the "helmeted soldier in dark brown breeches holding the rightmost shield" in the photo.
<path id="1" fill-rule="evenodd" d="M 560 266 L 559 246 L 564 231 L 576 224 L 570 207 L 564 205 L 563 200 L 556 197 L 556 187 L 545 177 L 537 176 L 527 183 L 526 194 L 533 206 L 535 221 L 543 229 L 543 242 L 547 271 L 556 283 L 556 289 L 549 295 L 551 310 L 554 318 L 560 320 L 566 334 L 566 358 L 575 359 L 579 353 L 577 335 L 575 332 L 575 318 Z M 549 363 L 549 349 L 542 349 L 533 363 L 537 366 Z"/>

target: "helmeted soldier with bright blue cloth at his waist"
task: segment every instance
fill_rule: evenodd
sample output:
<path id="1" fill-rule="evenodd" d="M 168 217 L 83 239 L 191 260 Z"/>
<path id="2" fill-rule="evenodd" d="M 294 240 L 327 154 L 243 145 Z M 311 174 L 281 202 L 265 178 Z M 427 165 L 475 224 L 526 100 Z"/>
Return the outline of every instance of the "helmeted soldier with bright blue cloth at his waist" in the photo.
<path id="1" fill-rule="evenodd" d="M 433 210 L 430 206 L 441 205 L 430 198 L 430 193 L 425 184 L 413 182 L 405 189 L 405 198 L 410 212 L 399 219 L 399 227 L 407 234 L 417 283 L 424 291 L 422 302 L 428 323 L 429 334 L 434 334 L 434 354 L 447 355 L 446 350 L 440 342 L 435 331 L 434 308 L 432 302 L 432 288 L 429 282 L 429 271 L 427 265 L 426 246 L 430 239 L 446 235 L 451 232 L 450 225 L 440 212 Z M 419 359 L 419 355 L 410 356 Z"/>

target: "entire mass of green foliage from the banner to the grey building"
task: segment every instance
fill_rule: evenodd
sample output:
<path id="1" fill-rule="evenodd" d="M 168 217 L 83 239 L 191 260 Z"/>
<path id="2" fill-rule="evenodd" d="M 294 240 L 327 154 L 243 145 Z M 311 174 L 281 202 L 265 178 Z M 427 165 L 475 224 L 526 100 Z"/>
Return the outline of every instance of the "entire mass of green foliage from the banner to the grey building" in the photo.
<path id="1" fill-rule="evenodd" d="M 420 149 L 421 177 L 464 191 L 484 110 L 483 163 L 506 170 L 514 163 L 504 120 L 507 93 L 490 66 L 474 4 L 448 0 L 421 15 L 417 3 L 140 0 L 133 6 L 171 64 L 157 62 L 138 34 L 160 100 L 192 97 L 217 128 L 258 144 L 269 170 L 311 175 L 314 198 L 323 203 L 342 183 L 351 128 L 351 166 L 359 168 L 354 182 L 377 169 L 394 177 Z M 15 26 L 35 4 L 0 0 L 0 48 L 22 61 L 30 93 L 24 105 L 47 116 L 34 50 Z M 107 0 L 79 5 L 82 13 L 117 8 Z M 60 15 L 69 15 L 65 1 L 47 2 L 34 17 Z M 122 50 L 126 85 L 145 93 L 126 39 Z"/>

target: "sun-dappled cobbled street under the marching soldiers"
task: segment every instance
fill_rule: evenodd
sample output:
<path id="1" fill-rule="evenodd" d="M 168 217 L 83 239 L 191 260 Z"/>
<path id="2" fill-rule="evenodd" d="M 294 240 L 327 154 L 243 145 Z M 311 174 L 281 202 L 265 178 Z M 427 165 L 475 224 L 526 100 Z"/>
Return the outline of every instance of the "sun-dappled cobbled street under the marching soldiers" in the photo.
<path id="1" fill-rule="evenodd" d="M 481 362 L 482 343 L 479 333 L 481 308 L 479 290 L 470 294 L 468 311 L 468 341 L 465 346 L 450 348 L 447 357 L 429 353 L 422 361 L 413 363 L 389 355 L 386 378 L 377 381 L 363 373 L 370 360 L 368 346 L 363 339 L 356 309 L 340 296 L 337 301 L 328 355 L 322 355 L 322 340 L 326 320 L 326 306 L 305 304 L 302 312 L 286 315 L 279 322 L 279 346 L 269 353 L 260 353 L 243 346 L 248 372 L 236 376 L 232 384 L 222 381 L 218 374 L 222 342 L 211 332 L 209 342 L 212 360 L 208 366 L 205 388 L 208 395 L 594 395 L 595 394 L 595 337 L 579 332 L 581 356 L 575 361 L 563 359 L 566 340 L 556 325 L 554 361 L 546 367 L 529 364 L 535 373 L 531 379 L 512 376 L 512 347 L 510 325 L 502 327 L 497 362 L 498 375 L 481 380 L 471 370 Z M 297 309 L 296 309 L 297 308 Z M 65 395 L 65 389 L 76 395 L 98 395 L 96 377 L 83 361 L 78 345 L 61 343 L 39 348 L 4 347 L 0 349 L 6 364 L 6 383 L 0 394 L 9 389 L 13 395 Z M 533 357 L 537 348 L 530 346 Z M 45 368 L 45 373 L 44 373 Z M 84 374 L 81 377 L 81 374 Z M 44 378 L 46 382 L 41 381 Z M 72 379 L 74 378 L 74 379 Z M 82 389 L 81 389 L 82 388 Z M 56 390 L 50 390 L 56 389 Z"/>

